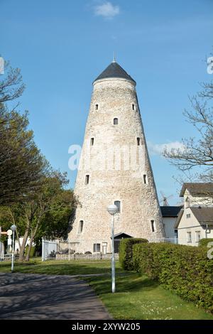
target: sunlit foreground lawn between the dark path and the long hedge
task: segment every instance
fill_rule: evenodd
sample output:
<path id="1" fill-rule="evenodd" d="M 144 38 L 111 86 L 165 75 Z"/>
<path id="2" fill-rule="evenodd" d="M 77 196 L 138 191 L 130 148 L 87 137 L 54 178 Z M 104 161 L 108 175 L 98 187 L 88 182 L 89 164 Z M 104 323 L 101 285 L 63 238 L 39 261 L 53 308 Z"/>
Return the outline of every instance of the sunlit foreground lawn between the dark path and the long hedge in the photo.
<path id="1" fill-rule="evenodd" d="M 175 293 L 163 289 L 147 276 L 131 273 L 117 276 L 116 293 L 111 293 L 110 277 L 85 279 L 102 299 L 114 319 L 213 320 L 213 316 Z"/>

